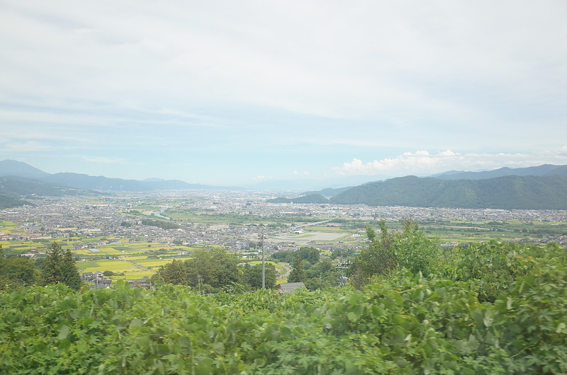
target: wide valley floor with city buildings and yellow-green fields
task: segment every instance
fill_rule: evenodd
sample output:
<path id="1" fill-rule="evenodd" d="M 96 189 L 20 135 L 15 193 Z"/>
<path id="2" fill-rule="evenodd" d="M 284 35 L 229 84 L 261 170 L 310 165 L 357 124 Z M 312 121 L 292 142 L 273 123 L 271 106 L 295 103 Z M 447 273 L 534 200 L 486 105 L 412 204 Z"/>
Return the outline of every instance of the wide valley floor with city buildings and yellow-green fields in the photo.
<path id="1" fill-rule="evenodd" d="M 266 202 L 271 198 L 269 192 L 204 190 L 38 197 L 33 206 L 0 212 L 0 243 L 5 254 L 42 258 L 55 241 L 72 250 L 82 274 L 141 279 L 199 248 L 224 248 L 254 264 L 262 253 L 271 260 L 276 251 L 309 246 L 338 265 L 367 246 L 366 226 L 376 229 L 381 220 L 394 231 L 403 220 L 417 221 L 443 246 L 492 238 L 567 241 L 565 210 Z M 285 280 L 289 265 L 271 264 Z"/>

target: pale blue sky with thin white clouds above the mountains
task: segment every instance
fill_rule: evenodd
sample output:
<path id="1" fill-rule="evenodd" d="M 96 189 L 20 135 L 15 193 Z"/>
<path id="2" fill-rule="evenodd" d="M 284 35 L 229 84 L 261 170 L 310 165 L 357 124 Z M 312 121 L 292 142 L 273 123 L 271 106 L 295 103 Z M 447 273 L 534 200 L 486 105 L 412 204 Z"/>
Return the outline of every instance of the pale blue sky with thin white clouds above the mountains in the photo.
<path id="1" fill-rule="evenodd" d="M 567 1 L 0 1 L 0 160 L 211 185 L 567 164 Z"/>

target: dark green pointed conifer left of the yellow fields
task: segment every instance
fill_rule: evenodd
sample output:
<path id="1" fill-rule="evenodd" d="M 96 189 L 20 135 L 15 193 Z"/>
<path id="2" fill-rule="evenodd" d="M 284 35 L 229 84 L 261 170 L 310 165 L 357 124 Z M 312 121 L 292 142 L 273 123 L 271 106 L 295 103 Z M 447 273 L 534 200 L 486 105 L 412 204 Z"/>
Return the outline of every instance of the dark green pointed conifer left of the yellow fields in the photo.
<path id="1" fill-rule="evenodd" d="M 42 267 L 44 284 L 62 282 L 72 289 L 81 287 L 81 277 L 71 251 L 64 252 L 57 242 L 53 242 L 47 249 L 47 258 Z"/>

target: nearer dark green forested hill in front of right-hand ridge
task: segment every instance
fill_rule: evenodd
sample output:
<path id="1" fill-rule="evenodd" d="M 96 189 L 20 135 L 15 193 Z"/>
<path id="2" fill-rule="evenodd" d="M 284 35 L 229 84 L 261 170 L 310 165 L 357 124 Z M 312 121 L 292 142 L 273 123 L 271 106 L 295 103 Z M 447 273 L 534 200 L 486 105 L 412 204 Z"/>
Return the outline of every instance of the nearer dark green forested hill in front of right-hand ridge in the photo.
<path id="1" fill-rule="evenodd" d="M 367 183 L 330 199 L 337 204 L 498 209 L 567 209 L 567 177 L 507 175 L 485 180 L 406 176 Z"/>

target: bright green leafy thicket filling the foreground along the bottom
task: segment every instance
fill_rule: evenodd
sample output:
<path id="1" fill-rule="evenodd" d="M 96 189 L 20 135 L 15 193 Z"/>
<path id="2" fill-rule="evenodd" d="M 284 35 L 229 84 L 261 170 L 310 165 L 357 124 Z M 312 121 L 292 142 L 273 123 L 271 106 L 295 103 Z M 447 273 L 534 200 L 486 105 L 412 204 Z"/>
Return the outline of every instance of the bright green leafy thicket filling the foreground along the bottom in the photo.
<path id="1" fill-rule="evenodd" d="M 116 289 L 84 292 L 62 284 L 0 291 L 0 368 L 6 374 L 566 374 L 565 250 L 489 245 L 478 257 L 473 250 L 450 255 L 446 266 L 476 270 L 488 253 L 517 253 L 502 272 L 515 275 L 493 302 L 478 299 L 490 272 L 465 279 L 459 272 L 423 277 L 408 270 L 361 291 L 286 295 L 199 296 L 172 285 L 130 289 L 121 280 Z M 527 268 L 514 271 L 522 262 Z"/>

